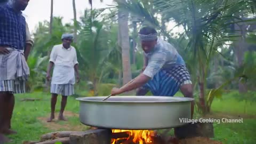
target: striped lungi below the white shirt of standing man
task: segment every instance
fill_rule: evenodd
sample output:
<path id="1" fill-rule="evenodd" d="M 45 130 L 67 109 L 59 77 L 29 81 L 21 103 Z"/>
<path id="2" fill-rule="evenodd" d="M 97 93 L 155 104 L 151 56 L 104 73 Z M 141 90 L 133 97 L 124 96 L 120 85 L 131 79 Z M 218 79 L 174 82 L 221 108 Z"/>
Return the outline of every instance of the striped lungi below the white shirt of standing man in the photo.
<path id="1" fill-rule="evenodd" d="M 51 84 L 51 93 L 69 96 L 75 94 L 73 84 Z"/>

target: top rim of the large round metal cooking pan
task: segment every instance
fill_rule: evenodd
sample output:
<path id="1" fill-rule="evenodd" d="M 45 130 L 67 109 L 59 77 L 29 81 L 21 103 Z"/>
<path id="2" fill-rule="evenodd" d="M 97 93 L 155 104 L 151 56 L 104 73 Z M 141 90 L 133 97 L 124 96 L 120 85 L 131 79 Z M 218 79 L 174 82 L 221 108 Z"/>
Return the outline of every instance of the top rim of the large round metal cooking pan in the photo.
<path id="1" fill-rule="evenodd" d="M 123 98 L 134 98 L 134 97 L 162 97 L 162 98 L 178 98 L 178 99 L 183 99 L 183 100 L 163 100 L 163 101 L 108 101 L 103 99 L 107 98 L 106 96 L 100 96 L 97 98 L 102 98 L 102 100 L 86 100 L 85 98 L 93 98 L 93 97 L 81 97 L 81 98 L 76 98 L 78 101 L 84 101 L 84 102 L 110 102 L 110 103 L 170 103 L 170 102 L 191 102 L 194 101 L 194 98 L 188 98 L 188 97 L 167 97 L 167 96 L 114 96 L 114 97 L 123 97 Z"/>

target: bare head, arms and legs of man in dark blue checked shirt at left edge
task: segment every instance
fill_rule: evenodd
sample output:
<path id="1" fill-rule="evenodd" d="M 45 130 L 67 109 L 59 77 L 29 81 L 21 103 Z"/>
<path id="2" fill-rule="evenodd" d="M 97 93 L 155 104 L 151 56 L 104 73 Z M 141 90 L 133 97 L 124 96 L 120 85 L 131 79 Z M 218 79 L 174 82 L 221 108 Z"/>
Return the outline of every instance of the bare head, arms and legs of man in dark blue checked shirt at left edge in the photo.
<path id="1" fill-rule="evenodd" d="M 28 5 L 29 0 L 14 0 L 12 5 L 16 12 L 24 11 Z M 0 54 L 9 54 L 10 52 L 6 49 L 9 46 L 0 46 Z M 26 44 L 25 59 L 29 55 L 31 49 L 30 44 Z M 0 92 L 0 133 L 4 134 L 14 134 L 16 131 L 10 130 L 11 128 L 11 118 L 14 109 L 14 95 L 11 92 Z M 0 137 L 0 142 L 1 142 Z"/>

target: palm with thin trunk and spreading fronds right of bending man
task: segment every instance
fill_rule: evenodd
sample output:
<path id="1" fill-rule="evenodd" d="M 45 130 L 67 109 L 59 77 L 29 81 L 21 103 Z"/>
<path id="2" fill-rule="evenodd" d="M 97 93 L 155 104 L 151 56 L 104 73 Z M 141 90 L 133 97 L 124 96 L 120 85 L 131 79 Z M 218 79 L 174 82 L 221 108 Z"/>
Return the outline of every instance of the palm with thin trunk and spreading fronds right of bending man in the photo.
<path id="1" fill-rule="evenodd" d="M 161 14 L 166 21 L 173 19 L 178 23 L 177 26 L 183 26 L 185 33 L 181 35 L 181 39 L 188 39 L 187 50 L 193 52 L 194 60 L 197 61 L 196 71 L 193 73 L 197 74 L 199 99 L 203 112 L 206 112 L 206 77 L 210 62 L 218 54 L 218 47 L 227 41 L 236 41 L 237 36 L 230 32 L 230 25 L 243 21 L 236 17 L 241 15 L 239 10 L 245 12 L 243 15 L 254 13 L 256 3 L 242 0 L 153 0 L 150 4 L 154 5 L 154 9 L 148 10 L 141 1 L 117 2 L 118 9 L 138 15 L 158 29 L 162 26 L 154 17 L 155 14 Z"/>

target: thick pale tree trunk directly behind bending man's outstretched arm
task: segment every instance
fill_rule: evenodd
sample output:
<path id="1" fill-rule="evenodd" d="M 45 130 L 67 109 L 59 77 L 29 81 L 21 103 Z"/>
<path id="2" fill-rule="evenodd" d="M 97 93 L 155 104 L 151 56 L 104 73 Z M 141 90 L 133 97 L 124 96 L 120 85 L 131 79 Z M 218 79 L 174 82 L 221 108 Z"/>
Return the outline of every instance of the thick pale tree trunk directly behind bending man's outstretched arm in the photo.
<path id="1" fill-rule="evenodd" d="M 129 28 L 128 14 L 119 10 L 118 24 L 120 31 L 120 40 L 122 46 L 122 63 L 123 63 L 123 85 L 132 79 L 130 63 L 130 45 L 129 45 Z"/>

